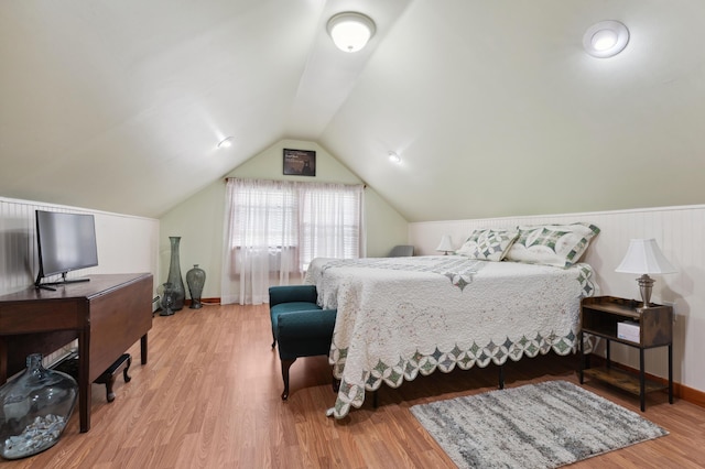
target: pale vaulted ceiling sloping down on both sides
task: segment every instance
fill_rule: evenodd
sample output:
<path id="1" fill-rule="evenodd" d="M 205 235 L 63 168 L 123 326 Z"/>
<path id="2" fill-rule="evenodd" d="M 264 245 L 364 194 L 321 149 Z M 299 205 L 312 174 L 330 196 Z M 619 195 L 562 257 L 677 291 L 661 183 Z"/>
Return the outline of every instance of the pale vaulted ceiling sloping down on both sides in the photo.
<path id="1" fill-rule="evenodd" d="M 159 217 L 299 139 L 410 221 L 703 204 L 703 44 L 701 0 L 6 0 L 0 196 Z"/>

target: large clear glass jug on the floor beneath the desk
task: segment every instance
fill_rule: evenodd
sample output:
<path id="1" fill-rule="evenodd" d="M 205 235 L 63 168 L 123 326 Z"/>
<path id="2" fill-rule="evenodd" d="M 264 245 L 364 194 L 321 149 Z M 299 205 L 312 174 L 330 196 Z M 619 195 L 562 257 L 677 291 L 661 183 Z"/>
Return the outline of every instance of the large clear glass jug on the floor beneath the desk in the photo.
<path id="1" fill-rule="evenodd" d="M 76 380 L 26 358 L 26 370 L 0 388 L 0 455 L 20 459 L 56 444 L 78 397 Z"/>

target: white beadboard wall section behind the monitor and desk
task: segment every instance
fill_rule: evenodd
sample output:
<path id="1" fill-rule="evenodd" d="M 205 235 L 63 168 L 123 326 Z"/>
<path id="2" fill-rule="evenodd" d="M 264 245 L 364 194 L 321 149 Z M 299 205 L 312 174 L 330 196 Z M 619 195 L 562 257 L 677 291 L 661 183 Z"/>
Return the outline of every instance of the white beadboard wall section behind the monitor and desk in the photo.
<path id="1" fill-rule="evenodd" d="M 78 207 L 0 198 L 0 294 L 34 284 L 39 271 L 34 210 L 93 214 L 98 266 L 70 272 L 69 279 L 101 273 L 150 272 L 158 276 L 159 220 Z"/>

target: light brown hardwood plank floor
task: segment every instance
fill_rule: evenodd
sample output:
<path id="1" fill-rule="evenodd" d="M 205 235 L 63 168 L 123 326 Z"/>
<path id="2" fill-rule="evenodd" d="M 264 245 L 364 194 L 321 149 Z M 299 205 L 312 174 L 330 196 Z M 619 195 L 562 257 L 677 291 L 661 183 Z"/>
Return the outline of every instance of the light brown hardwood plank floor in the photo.
<path id="1" fill-rule="evenodd" d="M 116 400 L 94 384 L 93 421 L 78 433 L 75 412 L 53 448 L 1 468 L 452 468 L 409 412 L 414 404 L 494 390 L 497 368 L 435 373 L 382 388 L 379 407 L 335 421 L 325 357 L 291 369 L 282 402 L 279 356 L 270 349 L 263 306 L 204 306 L 154 316 L 150 362 L 130 349 L 132 381 L 116 381 Z M 544 380 L 577 383 L 575 357 L 545 356 L 506 367 L 507 386 Z M 585 388 L 638 412 L 638 399 L 597 383 Z M 705 408 L 650 394 L 644 417 L 671 434 L 576 463 L 576 468 L 705 467 Z"/>

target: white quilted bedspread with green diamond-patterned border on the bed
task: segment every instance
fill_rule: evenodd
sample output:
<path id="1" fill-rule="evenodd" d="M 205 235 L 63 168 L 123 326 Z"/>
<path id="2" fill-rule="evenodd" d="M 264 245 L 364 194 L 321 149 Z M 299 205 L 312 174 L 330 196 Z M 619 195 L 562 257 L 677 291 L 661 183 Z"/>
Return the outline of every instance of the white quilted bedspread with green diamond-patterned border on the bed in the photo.
<path id="1" fill-rule="evenodd" d="M 329 361 L 340 390 L 328 415 L 341 418 L 366 390 L 419 373 L 575 351 L 592 273 L 455 255 L 315 259 L 306 283 L 338 310 Z"/>

